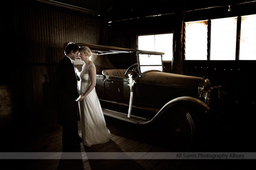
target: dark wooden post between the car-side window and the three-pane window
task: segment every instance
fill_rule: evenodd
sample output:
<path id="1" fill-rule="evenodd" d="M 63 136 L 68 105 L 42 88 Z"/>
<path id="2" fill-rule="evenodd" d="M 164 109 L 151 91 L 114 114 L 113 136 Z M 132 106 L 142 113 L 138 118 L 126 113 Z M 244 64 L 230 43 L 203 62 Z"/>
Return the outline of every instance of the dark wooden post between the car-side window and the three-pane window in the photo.
<path id="1" fill-rule="evenodd" d="M 172 73 L 182 74 L 183 58 L 183 29 L 185 17 L 185 4 L 178 2 L 174 13 L 173 45 L 172 45 Z"/>

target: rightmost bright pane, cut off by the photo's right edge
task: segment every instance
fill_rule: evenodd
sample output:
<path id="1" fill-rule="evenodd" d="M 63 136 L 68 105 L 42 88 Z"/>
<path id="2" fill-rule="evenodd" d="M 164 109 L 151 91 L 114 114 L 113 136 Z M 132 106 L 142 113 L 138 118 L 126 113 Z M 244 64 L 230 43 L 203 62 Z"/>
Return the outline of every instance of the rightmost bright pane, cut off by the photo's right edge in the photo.
<path id="1" fill-rule="evenodd" d="M 239 60 L 256 60 L 256 14 L 241 17 Z"/>

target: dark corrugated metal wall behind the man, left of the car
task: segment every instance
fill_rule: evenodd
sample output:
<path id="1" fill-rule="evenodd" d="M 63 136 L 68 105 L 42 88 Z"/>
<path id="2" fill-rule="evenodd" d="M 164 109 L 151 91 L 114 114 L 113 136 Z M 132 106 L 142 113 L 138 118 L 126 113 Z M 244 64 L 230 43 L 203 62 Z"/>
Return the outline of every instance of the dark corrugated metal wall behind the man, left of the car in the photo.
<path id="1" fill-rule="evenodd" d="M 55 107 L 55 71 L 64 57 L 63 44 L 98 44 L 100 18 L 36 3 L 17 3 L 14 10 L 17 11 L 13 14 L 13 33 L 18 47 L 13 50 L 17 55 L 13 72 L 19 80 L 16 87 L 20 89 L 20 107 L 25 114 L 40 115 Z"/>

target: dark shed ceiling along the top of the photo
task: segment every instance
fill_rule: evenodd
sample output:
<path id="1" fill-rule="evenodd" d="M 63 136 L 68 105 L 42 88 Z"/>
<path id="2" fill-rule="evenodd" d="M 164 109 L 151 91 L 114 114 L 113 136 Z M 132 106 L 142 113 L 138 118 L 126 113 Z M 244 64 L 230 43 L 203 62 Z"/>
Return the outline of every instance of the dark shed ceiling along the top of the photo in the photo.
<path id="1" fill-rule="evenodd" d="M 108 16 L 108 21 L 141 18 L 153 15 L 174 13 L 175 9 L 185 6 L 185 11 L 194 11 L 216 6 L 228 6 L 255 1 L 246 0 L 37 0 L 78 7 L 90 13 Z"/>

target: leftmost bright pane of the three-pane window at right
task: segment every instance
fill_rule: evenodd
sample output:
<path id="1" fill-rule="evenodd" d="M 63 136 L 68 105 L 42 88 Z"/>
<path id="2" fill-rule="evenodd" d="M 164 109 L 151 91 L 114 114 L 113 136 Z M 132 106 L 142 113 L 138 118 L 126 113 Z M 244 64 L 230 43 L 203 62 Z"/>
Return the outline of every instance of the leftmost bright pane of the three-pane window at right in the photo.
<path id="1" fill-rule="evenodd" d="M 207 60 L 207 20 L 185 23 L 185 60 Z"/>

